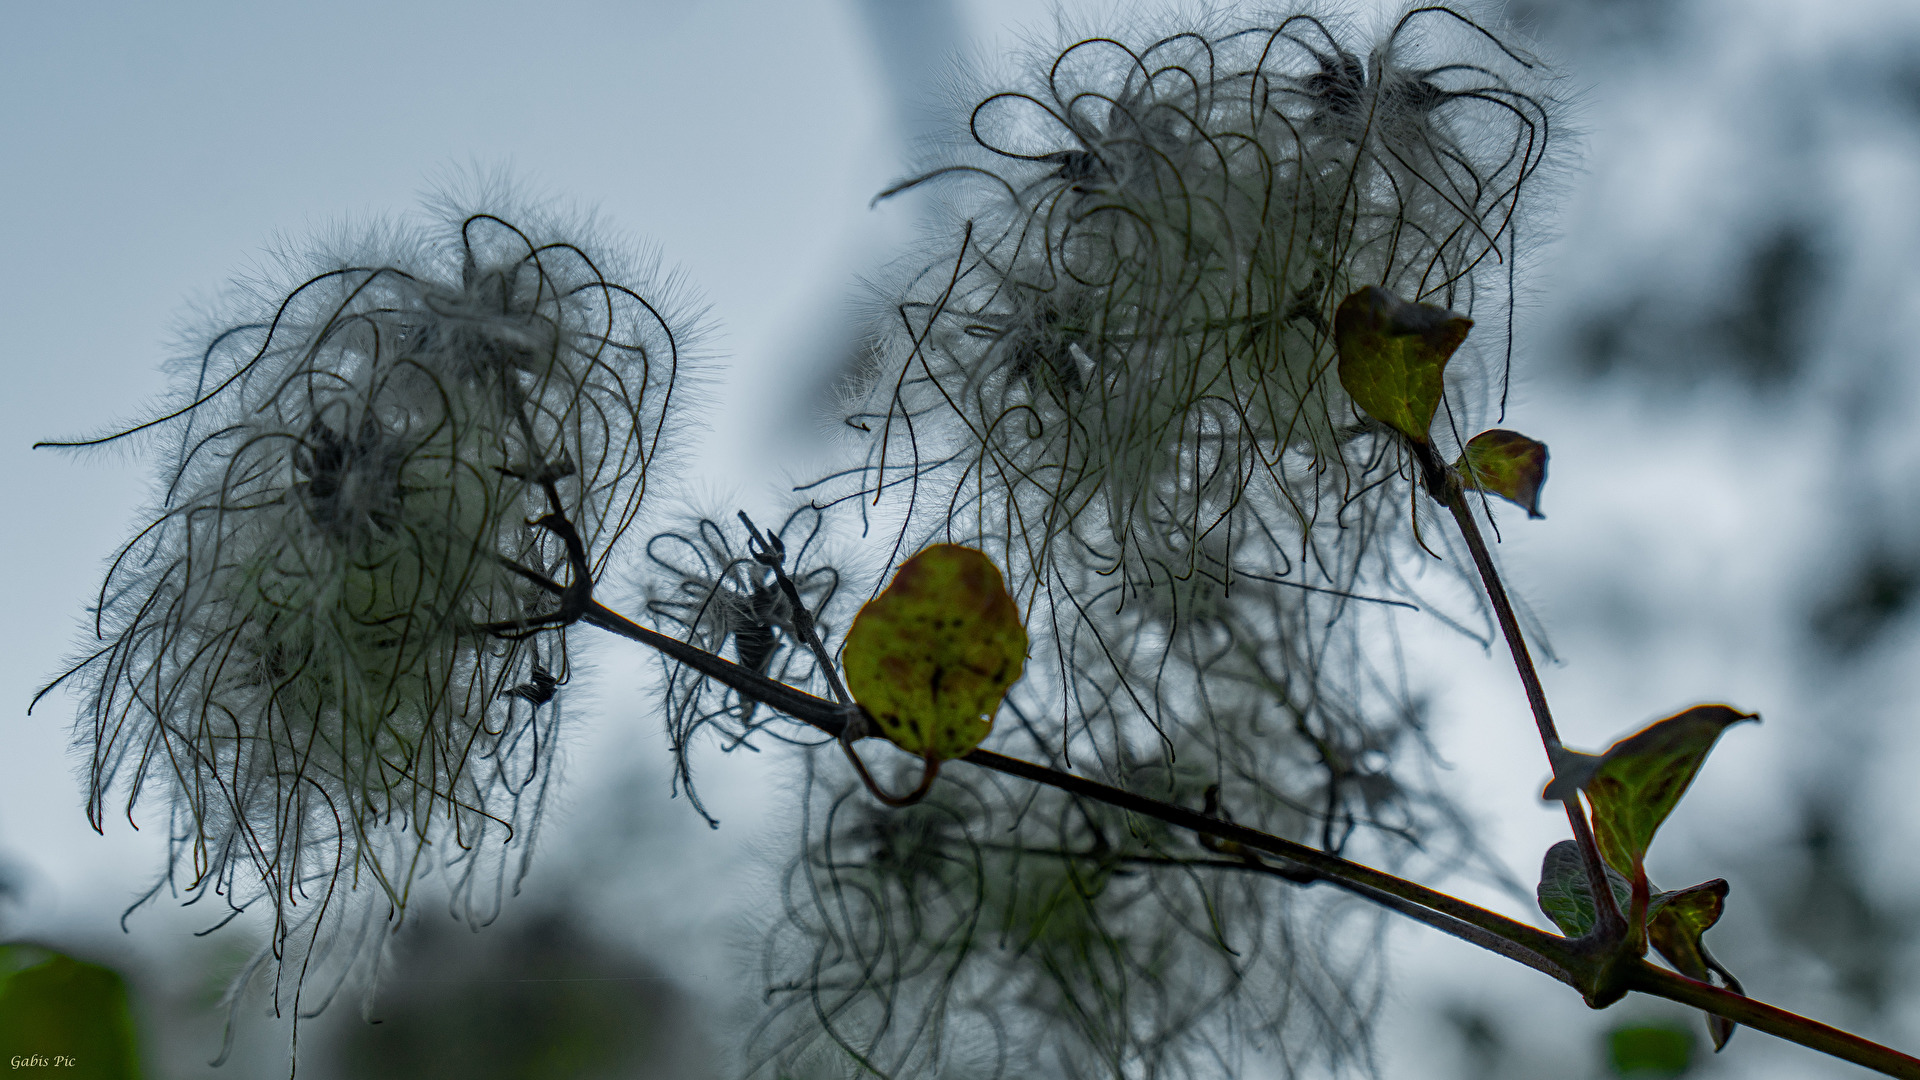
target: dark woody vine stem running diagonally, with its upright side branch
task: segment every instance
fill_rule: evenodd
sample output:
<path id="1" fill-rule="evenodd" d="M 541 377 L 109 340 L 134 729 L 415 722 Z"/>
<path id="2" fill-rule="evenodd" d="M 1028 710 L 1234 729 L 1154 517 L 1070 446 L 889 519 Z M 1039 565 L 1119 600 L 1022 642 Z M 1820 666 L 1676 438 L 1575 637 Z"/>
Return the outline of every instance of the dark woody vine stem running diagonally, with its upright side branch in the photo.
<path id="1" fill-rule="evenodd" d="M 1553 734 L 1553 719 L 1548 713 L 1546 694 L 1540 688 L 1540 676 L 1534 673 L 1526 642 L 1521 638 L 1519 623 L 1513 615 L 1513 605 L 1507 600 L 1500 575 L 1486 552 L 1486 542 L 1473 519 L 1467 496 L 1453 471 L 1434 455 L 1432 448 L 1419 446 L 1415 455 L 1428 482 L 1428 492 L 1448 505 L 1461 528 L 1461 534 L 1467 538 L 1467 546 L 1473 550 L 1475 565 L 1480 569 L 1488 598 L 1500 617 L 1500 628 L 1505 634 L 1507 646 L 1513 650 L 1521 680 L 1526 684 L 1526 696 L 1534 705 L 1534 717 L 1540 724 L 1542 738 L 1549 748 L 1557 748 L 1559 740 Z M 774 567 L 776 575 L 785 578 L 785 571 L 780 569 L 778 561 L 766 561 L 764 565 Z M 659 650 L 666 657 L 697 671 L 699 675 L 726 684 L 741 694 L 741 698 L 778 709 L 828 736 L 843 738 L 849 732 L 866 728 L 866 717 L 860 705 L 852 701 L 818 698 L 741 667 L 726 657 L 641 626 L 597 600 L 591 600 L 591 584 L 588 584 L 584 592 L 576 592 L 580 588 L 578 582 L 561 584 L 524 567 L 515 567 L 515 573 L 534 580 L 555 596 L 584 596 L 584 603 L 578 605 L 578 621 Z M 791 582 L 783 580 L 781 588 L 791 588 Z M 839 678 L 835 675 L 833 682 L 837 680 Z M 991 769 L 1006 776 L 1046 784 L 1071 796 L 1100 801 L 1127 813 L 1150 817 L 1192 832 L 1196 840 L 1215 851 L 1240 855 L 1238 859 L 1185 861 L 1188 867 L 1208 867 L 1223 872 L 1263 872 L 1296 886 L 1325 882 L 1350 892 L 1402 917 L 1413 919 L 1415 922 L 1423 922 L 1434 930 L 1452 934 L 1467 944 L 1478 945 L 1565 982 L 1567 986 L 1578 990 L 1594 1007 L 1611 1005 L 1628 992 L 1667 997 L 1668 1001 L 1692 1005 L 1716 1017 L 1724 1017 L 1736 1024 L 1801 1043 L 1809 1049 L 1851 1061 L 1885 1076 L 1920 1080 L 1920 1059 L 1916 1057 L 1822 1024 L 1809 1017 L 1766 1005 L 1764 1001 L 1755 1001 L 1741 994 L 1686 978 L 1684 974 L 1649 963 L 1640 955 L 1645 949 L 1644 934 L 1640 936 L 1640 949 L 1634 951 L 1626 920 L 1613 905 L 1611 892 L 1605 886 L 1594 890 L 1594 894 L 1601 897 L 1601 924 L 1584 938 L 1565 938 L 1528 926 L 1496 911 L 1488 911 L 1455 896 L 1427 888 L 1419 882 L 1342 859 L 1317 847 L 1260 832 L 1256 828 L 1246 828 L 1221 817 L 1204 815 L 1150 796 L 1100 784 L 1085 776 L 1075 776 L 1073 773 L 1035 765 L 1031 761 L 1021 761 L 989 749 L 973 749 L 960 761 L 979 769 Z M 1586 813 L 1580 809 L 1576 798 L 1565 799 L 1565 805 L 1567 819 L 1580 842 L 1582 855 L 1592 861 L 1590 872 L 1603 882 L 1605 876 L 1599 869 L 1599 853 Z M 1083 855 L 1073 851 L 1062 851 L 1060 855 L 1069 859 L 1094 857 L 1092 853 Z M 1275 857 L 1279 863 L 1267 863 L 1261 855 Z M 1605 913 L 1611 913 L 1611 920 Z"/>

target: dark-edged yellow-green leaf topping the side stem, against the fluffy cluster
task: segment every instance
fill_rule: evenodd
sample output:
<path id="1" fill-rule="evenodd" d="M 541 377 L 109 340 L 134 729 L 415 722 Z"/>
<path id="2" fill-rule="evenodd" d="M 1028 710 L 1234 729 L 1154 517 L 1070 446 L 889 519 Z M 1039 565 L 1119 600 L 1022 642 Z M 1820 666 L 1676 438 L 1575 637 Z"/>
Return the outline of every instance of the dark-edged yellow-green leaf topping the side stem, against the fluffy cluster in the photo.
<path id="1" fill-rule="evenodd" d="M 1465 315 L 1407 304 L 1369 284 L 1342 300 L 1332 315 L 1340 386 L 1369 417 L 1413 442 L 1427 442 L 1446 361 L 1469 329 L 1473 319 Z"/>

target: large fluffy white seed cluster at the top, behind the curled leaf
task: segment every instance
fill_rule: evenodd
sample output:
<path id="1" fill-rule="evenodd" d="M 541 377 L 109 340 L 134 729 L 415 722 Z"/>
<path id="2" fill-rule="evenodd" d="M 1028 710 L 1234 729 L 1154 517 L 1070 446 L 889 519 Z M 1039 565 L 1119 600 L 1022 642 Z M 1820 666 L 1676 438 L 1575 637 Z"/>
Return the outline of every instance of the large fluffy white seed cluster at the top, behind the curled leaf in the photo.
<path id="1" fill-rule="evenodd" d="M 1459 12 L 1356 37 L 1092 37 L 975 92 L 970 142 L 895 188 L 948 204 L 856 419 L 881 482 L 952 465 L 941 494 L 1008 559 L 1129 582 L 1206 573 L 1240 507 L 1306 546 L 1384 492 L 1400 459 L 1338 386 L 1332 309 L 1380 284 L 1501 311 L 1551 110 L 1536 61 Z"/>

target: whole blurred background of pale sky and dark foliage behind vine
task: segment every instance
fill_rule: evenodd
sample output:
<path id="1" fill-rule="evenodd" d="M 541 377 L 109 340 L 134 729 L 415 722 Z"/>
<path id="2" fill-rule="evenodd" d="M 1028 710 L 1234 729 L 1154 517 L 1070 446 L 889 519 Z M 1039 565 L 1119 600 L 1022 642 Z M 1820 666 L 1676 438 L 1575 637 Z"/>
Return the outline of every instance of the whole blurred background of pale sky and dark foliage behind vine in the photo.
<path id="1" fill-rule="evenodd" d="M 1663 832 L 1653 876 L 1732 882 L 1711 945 L 1749 992 L 1912 1051 L 1920 10 L 1509 13 L 1555 58 L 1586 136 L 1546 215 L 1557 236 L 1523 265 L 1509 415 L 1553 448 L 1549 517 L 1507 525 L 1501 550 L 1563 657 L 1546 678 L 1567 738 L 1594 749 L 1701 700 L 1761 711 Z M 0 136 L 17 152 L 0 192 L 17 246 L 0 265 L 0 363 L 17 390 L 0 475 L 27 536 L 8 584 L 25 611 L 83 607 L 140 477 L 25 444 L 134 413 L 159 386 L 173 307 L 273 233 L 411 206 L 422 177 L 468 160 L 601 206 L 687 267 L 732 357 L 695 486 L 770 505 L 787 475 L 764 463 L 822 446 L 828 425 L 793 402 L 831 407 L 856 275 L 914 225 L 912 198 L 866 200 L 929 135 L 948 56 L 1021 19 L 1014 0 L 563 4 L 538 19 L 486 4 L 10 10 Z M 48 621 L 6 630 L 19 703 L 60 667 Z M 1405 651 L 1448 782 L 1532 880 L 1565 822 L 1536 801 L 1546 763 L 1511 673 L 1438 626 Z M 791 840 L 785 765 L 708 755 L 708 830 L 668 798 L 657 661 L 591 659 L 568 703 L 564 807 L 524 894 L 478 936 L 422 905 L 372 1007 L 382 1022 L 338 1001 L 301 1030 L 301 1076 L 733 1070 L 764 990 L 747 924 Z M 119 970 L 148 1076 L 278 1074 L 288 1032 L 263 1001 L 242 1003 L 225 1072 L 204 1065 L 255 930 L 194 938 L 209 919 L 161 905 L 119 932 L 157 838 L 84 828 L 56 767 L 65 715 L 0 721 L 0 940 Z M 1421 928 L 1388 947 L 1379 1072 L 1394 1080 L 1857 1074 L 1753 1032 L 1716 1057 L 1684 1009 L 1590 1013 Z"/>

